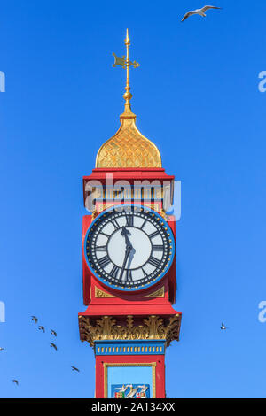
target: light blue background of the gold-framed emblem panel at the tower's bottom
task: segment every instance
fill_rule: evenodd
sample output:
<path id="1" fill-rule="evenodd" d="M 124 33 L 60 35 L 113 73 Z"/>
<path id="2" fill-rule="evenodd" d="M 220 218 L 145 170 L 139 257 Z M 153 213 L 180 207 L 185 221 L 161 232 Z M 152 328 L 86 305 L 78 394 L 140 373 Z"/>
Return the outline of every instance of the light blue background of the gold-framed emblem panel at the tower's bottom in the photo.
<path id="1" fill-rule="evenodd" d="M 126 364 L 124 366 L 112 366 L 110 364 L 107 367 L 107 386 L 108 398 L 114 397 L 116 387 L 121 388 L 121 386 L 129 386 L 126 390 L 127 394 L 130 390 L 136 389 L 137 386 L 148 386 L 148 394 L 153 397 L 153 367 L 127 366 Z M 138 388 L 136 393 L 140 391 L 141 388 Z M 136 397 L 136 393 L 134 397 Z"/>

